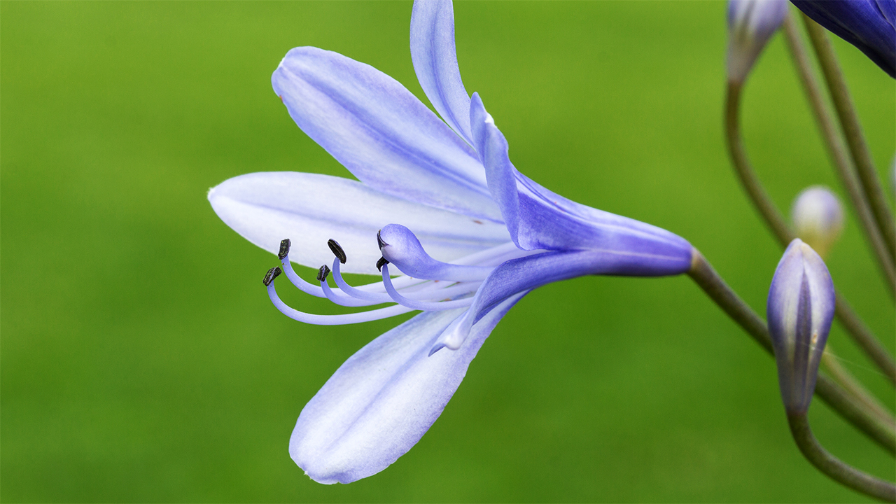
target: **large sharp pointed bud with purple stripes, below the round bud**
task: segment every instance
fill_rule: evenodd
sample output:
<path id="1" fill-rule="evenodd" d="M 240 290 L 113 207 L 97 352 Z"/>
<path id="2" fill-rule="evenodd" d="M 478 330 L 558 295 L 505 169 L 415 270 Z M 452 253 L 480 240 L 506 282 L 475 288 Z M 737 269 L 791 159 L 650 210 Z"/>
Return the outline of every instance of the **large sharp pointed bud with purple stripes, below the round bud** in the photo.
<path id="1" fill-rule="evenodd" d="M 788 413 L 806 413 L 834 316 L 834 284 L 824 261 L 794 239 L 771 279 L 767 317 Z"/>

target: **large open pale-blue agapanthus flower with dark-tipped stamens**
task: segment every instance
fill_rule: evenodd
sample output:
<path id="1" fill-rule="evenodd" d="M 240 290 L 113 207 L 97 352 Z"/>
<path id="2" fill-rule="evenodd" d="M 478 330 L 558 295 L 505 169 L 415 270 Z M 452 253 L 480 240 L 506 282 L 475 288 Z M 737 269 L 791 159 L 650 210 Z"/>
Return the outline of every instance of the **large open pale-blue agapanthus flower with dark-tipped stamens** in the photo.
<path id="1" fill-rule="evenodd" d="M 369 65 L 294 48 L 271 78 L 274 91 L 359 181 L 254 173 L 209 193 L 224 222 L 279 254 L 264 283 L 287 316 L 352 324 L 423 311 L 349 358 L 302 410 L 289 454 L 317 482 L 353 482 L 407 452 L 501 317 L 531 290 L 584 274 L 659 276 L 691 265 L 685 239 L 573 203 L 514 168 L 504 135 L 461 82 L 450 0 L 414 4 L 410 48 L 444 121 Z M 293 261 L 321 265 L 316 281 L 299 277 Z M 342 306 L 390 306 L 302 312 L 278 297 L 281 272 Z M 347 272 L 381 281 L 352 286 Z"/>

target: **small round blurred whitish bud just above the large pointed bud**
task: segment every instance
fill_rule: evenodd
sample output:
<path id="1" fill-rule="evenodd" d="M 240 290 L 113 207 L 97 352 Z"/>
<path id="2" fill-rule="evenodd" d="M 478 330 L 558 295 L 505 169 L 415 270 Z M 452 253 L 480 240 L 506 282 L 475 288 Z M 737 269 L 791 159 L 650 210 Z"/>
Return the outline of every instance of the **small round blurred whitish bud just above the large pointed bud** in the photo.
<path id="1" fill-rule="evenodd" d="M 843 230 L 843 207 L 827 187 L 808 187 L 799 193 L 790 211 L 797 237 L 826 257 Z"/>

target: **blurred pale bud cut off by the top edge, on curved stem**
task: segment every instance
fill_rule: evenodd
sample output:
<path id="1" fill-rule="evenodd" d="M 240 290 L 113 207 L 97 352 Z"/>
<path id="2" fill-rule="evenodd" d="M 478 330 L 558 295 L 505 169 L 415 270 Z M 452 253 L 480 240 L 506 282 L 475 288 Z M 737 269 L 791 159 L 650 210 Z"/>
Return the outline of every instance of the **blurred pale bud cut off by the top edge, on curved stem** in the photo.
<path id="1" fill-rule="evenodd" d="M 787 15 L 785 0 L 728 2 L 728 81 L 743 83 Z"/>

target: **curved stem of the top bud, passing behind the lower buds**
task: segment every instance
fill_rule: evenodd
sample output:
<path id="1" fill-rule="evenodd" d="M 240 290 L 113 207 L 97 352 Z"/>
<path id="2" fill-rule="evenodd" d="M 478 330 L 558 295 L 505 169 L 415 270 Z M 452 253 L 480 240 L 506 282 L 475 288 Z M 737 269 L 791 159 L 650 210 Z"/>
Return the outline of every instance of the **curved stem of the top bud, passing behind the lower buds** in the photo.
<path id="1" fill-rule="evenodd" d="M 750 196 L 750 200 L 753 201 L 759 213 L 762 214 L 762 218 L 769 225 L 781 247 L 786 248 L 797 237 L 790 230 L 787 222 L 784 221 L 784 218 L 765 192 L 765 189 L 762 188 L 759 178 L 756 177 L 753 167 L 746 157 L 744 141 L 740 135 L 740 93 L 740 84 L 728 83 L 725 106 L 725 133 L 728 138 L 728 152 L 731 155 L 731 161 L 737 172 L 737 177 L 740 178 L 747 195 Z M 885 269 L 885 272 L 888 273 L 886 283 L 892 289 L 896 274 L 894 274 L 892 268 L 889 270 Z M 840 324 L 846 328 L 858 346 L 883 370 L 891 382 L 896 383 L 896 363 L 893 362 L 890 353 L 861 322 L 861 319 L 852 310 L 849 303 L 843 299 L 840 292 L 837 293 L 836 315 L 837 319 L 840 320 Z"/>

